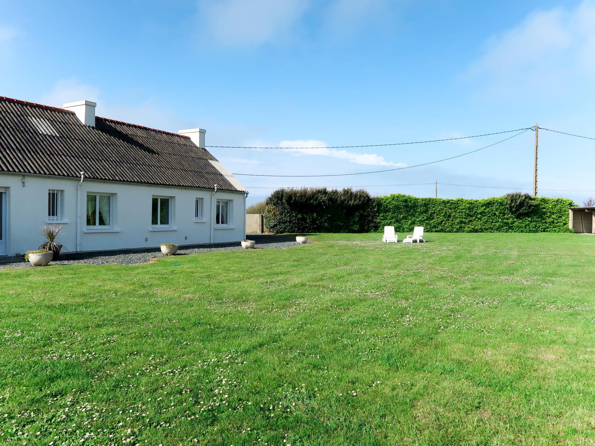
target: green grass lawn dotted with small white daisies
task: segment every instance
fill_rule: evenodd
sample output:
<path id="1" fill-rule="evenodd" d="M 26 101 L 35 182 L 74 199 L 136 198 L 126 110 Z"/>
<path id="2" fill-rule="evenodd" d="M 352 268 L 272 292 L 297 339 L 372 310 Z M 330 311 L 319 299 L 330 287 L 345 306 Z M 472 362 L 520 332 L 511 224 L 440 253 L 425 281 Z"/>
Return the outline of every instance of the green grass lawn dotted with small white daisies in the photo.
<path id="1" fill-rule="evenodd" d="M 595 444 L 595 237 L 312 238 L 0 271 L 0 443 Z"/>

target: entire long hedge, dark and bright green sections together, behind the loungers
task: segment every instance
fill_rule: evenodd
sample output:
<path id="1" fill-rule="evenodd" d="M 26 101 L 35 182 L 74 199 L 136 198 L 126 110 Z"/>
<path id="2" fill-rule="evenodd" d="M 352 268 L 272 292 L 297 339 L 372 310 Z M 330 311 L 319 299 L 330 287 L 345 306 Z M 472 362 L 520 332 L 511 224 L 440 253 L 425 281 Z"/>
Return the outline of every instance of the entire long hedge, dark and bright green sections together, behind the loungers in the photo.
<path id="1" fill-rule="evenodd" d="M 515 195 L 515 194 L 512 194 Z M 520 194 L 516 194 L 519 199 Z M 362 233 L 394 226 L 410 232 L 423 226 L 441 233 L 559 233 L 568 230 L 572 200 L 530 198 L 530 212 L 514 215 L 513 197 L 483 200 L 371 197 L 365 190 L 278 189 L 268 197 L 265 221 L 274 233 Z"/>

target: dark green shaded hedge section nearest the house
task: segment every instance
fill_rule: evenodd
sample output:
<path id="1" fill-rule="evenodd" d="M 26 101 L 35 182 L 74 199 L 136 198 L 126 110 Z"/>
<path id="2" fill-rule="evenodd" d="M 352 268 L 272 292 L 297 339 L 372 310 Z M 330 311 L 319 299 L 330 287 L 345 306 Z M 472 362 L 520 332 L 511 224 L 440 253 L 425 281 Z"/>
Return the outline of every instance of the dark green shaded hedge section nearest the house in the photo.
<path id="1" fill-rule="evenodd" d="M 374 209 L 365 190 L 277 189 L 264 215 L 273 233 L 367 233 L 377 227 Z"/>

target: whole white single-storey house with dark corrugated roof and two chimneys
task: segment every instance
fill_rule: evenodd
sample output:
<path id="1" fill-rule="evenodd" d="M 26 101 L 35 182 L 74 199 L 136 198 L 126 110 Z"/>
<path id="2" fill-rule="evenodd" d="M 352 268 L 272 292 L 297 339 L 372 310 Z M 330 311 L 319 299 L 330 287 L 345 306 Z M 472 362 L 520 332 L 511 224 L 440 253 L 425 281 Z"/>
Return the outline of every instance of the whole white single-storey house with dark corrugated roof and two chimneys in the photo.
<path id="1" fill-rule="evenodd" d="M 225 243 L 245 238 L 248 191 L 179 133 L 0 96 L 0 255 L 37 249 L 44 224 L 65 250 Z"/>

